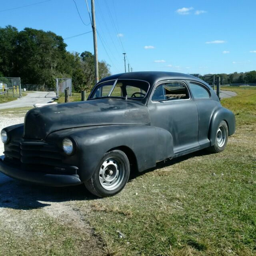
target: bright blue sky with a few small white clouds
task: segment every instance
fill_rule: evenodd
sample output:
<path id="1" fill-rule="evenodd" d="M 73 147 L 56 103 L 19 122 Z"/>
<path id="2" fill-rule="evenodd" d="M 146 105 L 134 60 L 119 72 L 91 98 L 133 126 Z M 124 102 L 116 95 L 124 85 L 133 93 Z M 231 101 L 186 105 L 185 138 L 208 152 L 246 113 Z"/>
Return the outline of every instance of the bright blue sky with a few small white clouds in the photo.
<path id="1" fill-rule="evenodd" d="M 66 49 L 94 52 L 86 0 L 0 2 L 0 27 L 50 30 L 64 39 L 88 32 L 65 39 Z M 98 59 L 112 74 L 124 72 L 124 52 L 126 71 L 128 63 L 132 71 L 256 70 L 255 10 L 256 0 L 95 0 Z"/>

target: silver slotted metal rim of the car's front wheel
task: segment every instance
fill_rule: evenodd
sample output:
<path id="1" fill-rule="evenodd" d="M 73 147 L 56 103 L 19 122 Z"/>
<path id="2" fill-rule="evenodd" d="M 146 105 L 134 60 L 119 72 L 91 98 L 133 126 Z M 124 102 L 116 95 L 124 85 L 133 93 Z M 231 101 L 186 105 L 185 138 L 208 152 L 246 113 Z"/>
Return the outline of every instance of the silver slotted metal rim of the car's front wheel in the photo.
<path id="1" fill-rule="evenodd" d="M 106 190 L 114 190 L 124 180 L 125 165 L 118 157 L 106 159 L 100 167 L 100 184 Z"/>

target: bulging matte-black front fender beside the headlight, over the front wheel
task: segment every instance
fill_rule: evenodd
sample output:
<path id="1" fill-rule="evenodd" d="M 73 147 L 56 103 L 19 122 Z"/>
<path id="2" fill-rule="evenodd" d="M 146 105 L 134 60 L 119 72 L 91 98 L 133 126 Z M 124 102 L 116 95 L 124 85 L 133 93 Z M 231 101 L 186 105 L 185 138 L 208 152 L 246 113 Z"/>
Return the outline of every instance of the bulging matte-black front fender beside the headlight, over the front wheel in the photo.
<path id="1" fill-rule="evenodd" d="M 164 129 L 147 125 L 90 126 L 61 130 L 46 140 L 58 141 L 71 137 L 78 144 L 77 154 L 82 181 L 90 178 L 102 156 L 112 148 L 128 147 L 135 155 L 138 171 L 156 166 L 156 162 L 173 155 L 172 137 Z"/>

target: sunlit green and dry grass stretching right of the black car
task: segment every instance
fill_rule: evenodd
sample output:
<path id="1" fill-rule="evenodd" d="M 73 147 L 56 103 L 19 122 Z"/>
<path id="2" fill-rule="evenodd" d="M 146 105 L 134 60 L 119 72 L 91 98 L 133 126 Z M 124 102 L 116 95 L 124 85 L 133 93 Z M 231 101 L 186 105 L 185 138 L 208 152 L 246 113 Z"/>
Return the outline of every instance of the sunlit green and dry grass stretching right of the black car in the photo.
<path id="1" fill-rule="evenodd" d="M 240 97 L 256 92 L 225 89 Z M 224 152 L 160 163 L 114 197 L 78 203 L 82 211 L 91 209 L 90 225 L 109 254 L 256 254 L 256 96 L 222 104 L 237 123 Z"/>

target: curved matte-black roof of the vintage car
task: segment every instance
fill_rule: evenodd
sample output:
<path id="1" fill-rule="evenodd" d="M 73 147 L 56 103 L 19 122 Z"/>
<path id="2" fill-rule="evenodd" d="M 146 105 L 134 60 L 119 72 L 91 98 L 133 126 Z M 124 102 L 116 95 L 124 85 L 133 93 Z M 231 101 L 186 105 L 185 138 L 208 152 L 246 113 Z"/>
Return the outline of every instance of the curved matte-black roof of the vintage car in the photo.
<path id="1" fill-rule="evenodd" d="M 114 74 L 112 76 L 103 78 L 102 80 L 100 80 L 100 82 L 115 80 L 115 79 L 145 80 L 150 83 L 151 87 L 159 81 L 169 80 L 169 79 L 194 80 L 209 86 L 208 84 L 206 84 L 206 82 L 204 82 L 200 78 L 191 76 L 189 74 L 182 74 L 182 73 L 176 73 L 176 72 L 160 72 L 160 71 L 141 71 L 141 72 L 128 72 L 128 73 Z"/>

